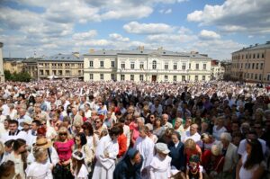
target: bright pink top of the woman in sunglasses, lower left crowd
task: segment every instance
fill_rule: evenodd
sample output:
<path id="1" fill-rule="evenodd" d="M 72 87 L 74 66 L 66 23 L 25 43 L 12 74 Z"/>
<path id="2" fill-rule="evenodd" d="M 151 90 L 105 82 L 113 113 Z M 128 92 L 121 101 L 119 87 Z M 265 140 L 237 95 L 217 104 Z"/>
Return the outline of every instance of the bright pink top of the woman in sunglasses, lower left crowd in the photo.
<path id="1" fill-rule="evenodd" d="M 60 161 L 67 161 L 71 158 L 73 145 L 73 139 L 69 139 L 67 142 L 54 142 L 54 147 L 58 152 L 58 157 Z"/>

